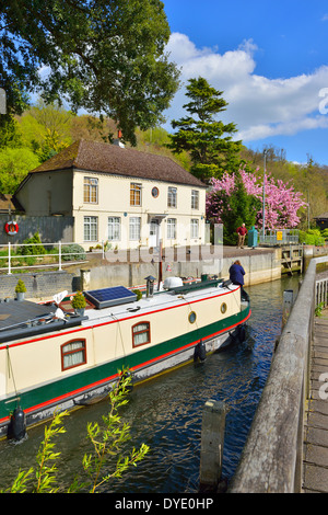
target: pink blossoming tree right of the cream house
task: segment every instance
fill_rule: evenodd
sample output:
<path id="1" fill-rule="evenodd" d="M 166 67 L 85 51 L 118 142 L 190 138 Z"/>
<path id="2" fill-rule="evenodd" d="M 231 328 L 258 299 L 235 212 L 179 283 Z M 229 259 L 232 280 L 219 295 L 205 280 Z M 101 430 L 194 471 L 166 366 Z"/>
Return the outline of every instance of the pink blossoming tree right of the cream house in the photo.
<path id="1" fill-rule="evenodd" d="M 222 179 L 212 178 L 211 190 L 207 194 L 207 217 L 214 222 L 224 222 L 225 210 L 231 209 L 230 199 L 235 194 L 236 173 L 224 173 Z M 254 172 L 238 171 L 247 195 L 253 196 L 262 205 L 263 179 Z M 274 180 L 270 173 L 266 174 L 266 229 L 290 229 L 297 226 L 300 217 L 297 211 L 306 206 L 302 193 L 295 192 L 293 185 Z M 256 203 L 255 203 L 256 205 Z M 256 227 L 262 227 L 262 207 L 256 213 Z"/>

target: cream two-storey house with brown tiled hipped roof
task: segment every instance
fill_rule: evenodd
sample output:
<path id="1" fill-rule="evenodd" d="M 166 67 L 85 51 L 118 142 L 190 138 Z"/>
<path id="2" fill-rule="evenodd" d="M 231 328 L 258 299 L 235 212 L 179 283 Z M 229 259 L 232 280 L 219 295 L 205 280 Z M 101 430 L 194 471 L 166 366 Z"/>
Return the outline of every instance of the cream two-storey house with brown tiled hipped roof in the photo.
<path id="1" fill-rule="evenodd" d="M 26 216 L 74 218 L 74 242 L 137 249 L 206 243 L 206 184 L 172 159 L 80 140 L 15 192 Z"/>

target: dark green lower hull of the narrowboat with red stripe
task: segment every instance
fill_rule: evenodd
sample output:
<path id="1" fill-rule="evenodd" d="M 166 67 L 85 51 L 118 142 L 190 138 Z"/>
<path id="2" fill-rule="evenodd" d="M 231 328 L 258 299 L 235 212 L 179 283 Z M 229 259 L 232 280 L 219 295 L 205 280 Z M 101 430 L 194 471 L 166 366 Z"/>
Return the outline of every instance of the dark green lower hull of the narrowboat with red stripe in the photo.
<path id="1" fill-rule="evenodd" d="M 138 385 L 194 360 L 195 348 L 200 342 L 204 344 L 207 354 L 224 348 L 238 335 L 241 327 L 249 317 L 248 306 L 237 314 L 151 348 L 141 348 L 137 353 L 7 397 L 0 400 L 0 437 L 8 435 L 10 412 L 17 403 L 24 411 L 26 427 L 36 425 L 51 417 L 55 411 L 73 410 L 105 398 L 122 369 L 128 368 L 132 375 L 132 384 Z"/>

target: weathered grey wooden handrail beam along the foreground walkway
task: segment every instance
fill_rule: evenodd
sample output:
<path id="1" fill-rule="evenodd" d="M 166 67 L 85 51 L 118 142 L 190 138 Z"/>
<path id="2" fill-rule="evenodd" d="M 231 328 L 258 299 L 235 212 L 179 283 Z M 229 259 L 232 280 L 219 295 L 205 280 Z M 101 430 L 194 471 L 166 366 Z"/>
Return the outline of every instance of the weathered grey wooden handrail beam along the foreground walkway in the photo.
<path id="1" fill-rule="evenodd" d="M 313 259 L 283 328 L 241 461 L 229 493 L 298 493 L 303 427 L 309 388 L 316 266 Z"/>

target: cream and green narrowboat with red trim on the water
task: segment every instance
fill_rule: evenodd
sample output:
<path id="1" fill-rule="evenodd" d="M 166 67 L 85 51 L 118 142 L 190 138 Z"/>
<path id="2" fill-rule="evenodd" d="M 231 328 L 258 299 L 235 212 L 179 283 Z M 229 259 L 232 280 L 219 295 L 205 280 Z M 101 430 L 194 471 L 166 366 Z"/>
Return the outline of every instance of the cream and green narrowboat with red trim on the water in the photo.
<path id="1" fill-rule="evenodd" d="M 124 286 L 71 297 L 0 302 L 0 437 L 105 397 L 121 370 L 132 384 L 226 346 L 250 317 L 249 299 L 230 281 L 184 284 L 167 277 L 138 298 Z M 73 294 L 72 294 L 73 295 Z"/>

